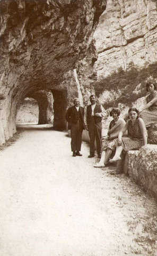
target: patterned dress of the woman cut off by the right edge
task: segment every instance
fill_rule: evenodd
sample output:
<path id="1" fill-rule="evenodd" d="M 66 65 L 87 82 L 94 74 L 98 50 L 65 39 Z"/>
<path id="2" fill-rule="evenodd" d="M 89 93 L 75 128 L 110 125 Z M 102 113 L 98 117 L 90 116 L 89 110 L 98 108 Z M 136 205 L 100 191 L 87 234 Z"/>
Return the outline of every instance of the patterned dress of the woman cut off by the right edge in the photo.
<path id="1" fill-rule="evenodd" d="M 153 94 L 149 94 L 146 97 L 146 102 L 149 103 L 156 95 L 156 91 Z M 140 117 L 143 119 L 146 127 L 150 126 L 151 123 L 157 122 L 157 101 L 150 108 L 143 110 L 140 113 Z"/>

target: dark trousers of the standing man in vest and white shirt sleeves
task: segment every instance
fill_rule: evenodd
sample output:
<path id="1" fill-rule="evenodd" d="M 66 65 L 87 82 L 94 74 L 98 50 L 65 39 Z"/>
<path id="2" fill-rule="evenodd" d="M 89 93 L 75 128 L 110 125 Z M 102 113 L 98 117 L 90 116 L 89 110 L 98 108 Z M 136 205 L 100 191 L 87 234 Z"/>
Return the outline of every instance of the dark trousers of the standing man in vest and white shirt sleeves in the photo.
<path id="1" fill-rule="evenodd" d="M 97 143 L 97 154 L 98 156 L 101 153 L 101 132 L 102 132 L 102 123 L 95 123 L 94 118 L 91 118 L 89 124 L 89 137 L 90 137 L 90 155 L 94 155 L 95 147 L 94 141 L 96 139 Z"/>

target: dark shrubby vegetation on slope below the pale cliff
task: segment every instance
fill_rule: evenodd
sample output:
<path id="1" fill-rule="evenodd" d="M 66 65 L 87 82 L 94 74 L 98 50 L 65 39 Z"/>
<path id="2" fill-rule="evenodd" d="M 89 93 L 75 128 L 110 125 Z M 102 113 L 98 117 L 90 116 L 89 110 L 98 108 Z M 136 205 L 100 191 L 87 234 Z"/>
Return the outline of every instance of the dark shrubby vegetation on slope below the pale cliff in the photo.
<path id="1" fill-rule="evenodd" d="M 152 77 L 152 80 L 156 78 L 156 69 L 157 62 L 142 69 L 130 63 L 127 71 L 119 68 L 111 76 L 101 77 L 94 82 L 95 94 L 98 98 L 104 91 L 115 91 L 118 94 L 116 98 L 104 101 L 103 106 L 106 109 L 117 107 L 118 103 L 130 107 L 133 102 L 146 95 L 145 83 L 149 77 Z"/>

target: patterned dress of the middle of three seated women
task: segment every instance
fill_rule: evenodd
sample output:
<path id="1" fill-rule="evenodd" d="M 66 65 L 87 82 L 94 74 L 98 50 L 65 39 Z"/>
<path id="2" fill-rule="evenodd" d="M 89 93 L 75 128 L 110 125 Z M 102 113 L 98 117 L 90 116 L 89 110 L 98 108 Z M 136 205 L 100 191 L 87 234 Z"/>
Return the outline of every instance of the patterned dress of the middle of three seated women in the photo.
<path id="1" fill-rule="evenodd" d="M 140 118 L 136 119 L 134 125 L 132 125 L 132 121 L 130 119 L 127 121 L 128 137 L 122 138 L 121 145 L 123 147 L 124 152 L 128 150 L 138 150 L 139 148 L 144 146 L 141 129 L 139 127 L 139 119 Z M 117 140 L 118 139 L 111 141 L 108 145 L 108 148 L 110 148 L 112 151 L 116 150 Z"/>

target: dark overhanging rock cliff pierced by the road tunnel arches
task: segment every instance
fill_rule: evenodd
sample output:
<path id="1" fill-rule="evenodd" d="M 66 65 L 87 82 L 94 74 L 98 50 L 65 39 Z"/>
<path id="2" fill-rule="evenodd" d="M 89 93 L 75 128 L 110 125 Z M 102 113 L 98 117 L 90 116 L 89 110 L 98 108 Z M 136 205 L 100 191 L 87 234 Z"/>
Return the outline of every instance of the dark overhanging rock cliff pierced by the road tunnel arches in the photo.
<path id="1" fill-rule="evenodd" d="M 66 107 L 78 95 L 83 103 L 85 79 L 80 75 L 80 84 L 77 74 L 79 68 L 87 66 L 86 58 L 90 61 L 86 68 L 90 81 L 94 77 L 97 59 L 90 50 L 92 36 L 105 8 L 106 0 L 0 2 L 0 145 L 16 132 L 21 100 L 33 98 L 38 91 L 38 103 L 43 99 L 41 91 L 53 93 L 54 126 L 65 129 Z"/>

